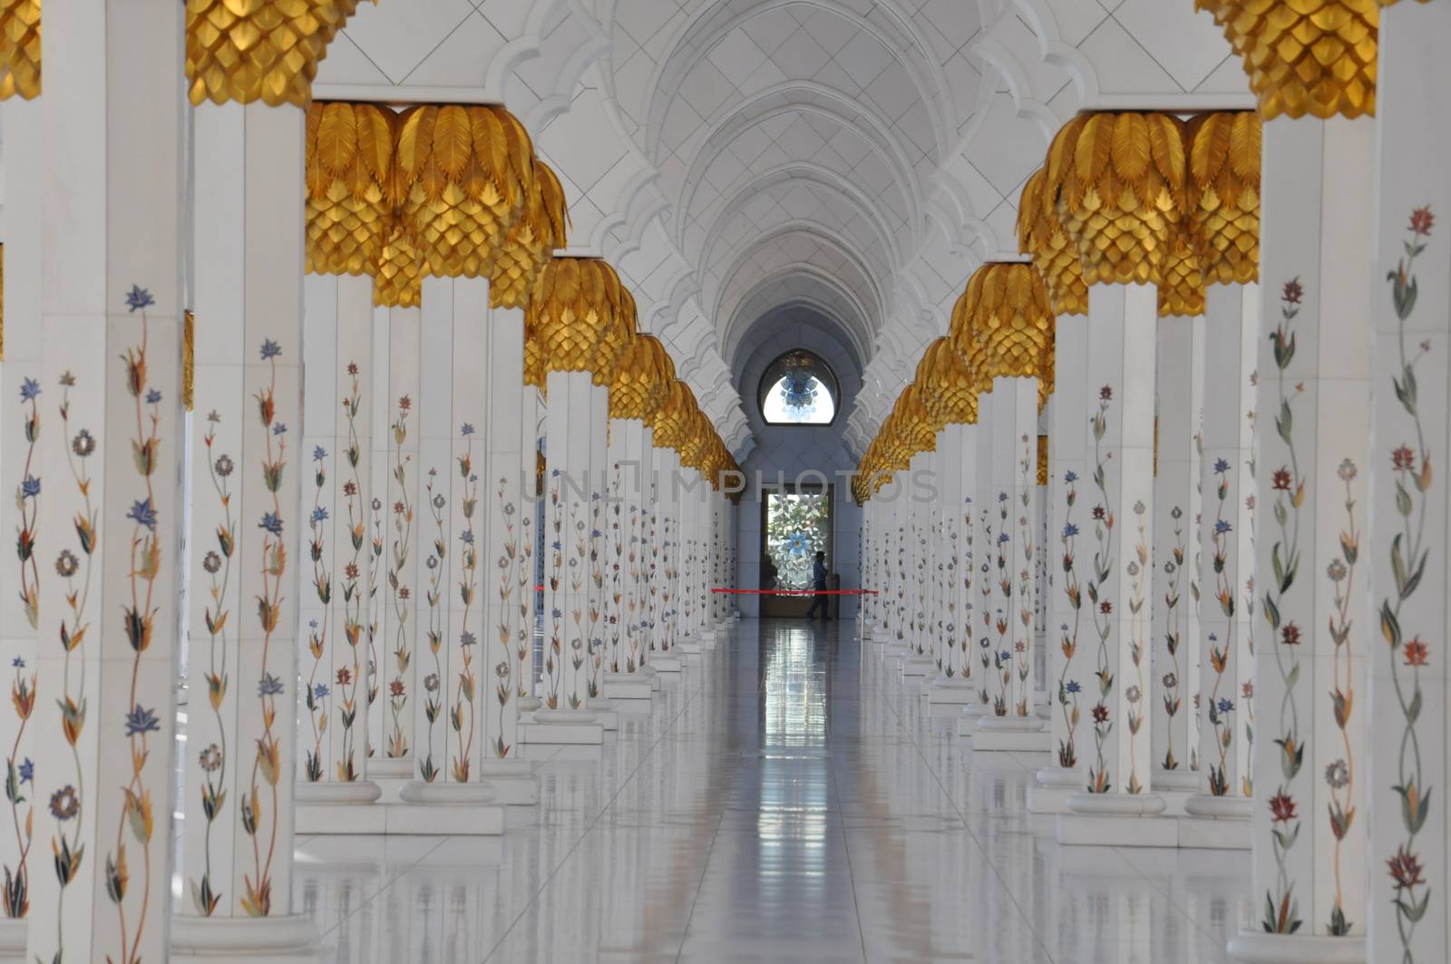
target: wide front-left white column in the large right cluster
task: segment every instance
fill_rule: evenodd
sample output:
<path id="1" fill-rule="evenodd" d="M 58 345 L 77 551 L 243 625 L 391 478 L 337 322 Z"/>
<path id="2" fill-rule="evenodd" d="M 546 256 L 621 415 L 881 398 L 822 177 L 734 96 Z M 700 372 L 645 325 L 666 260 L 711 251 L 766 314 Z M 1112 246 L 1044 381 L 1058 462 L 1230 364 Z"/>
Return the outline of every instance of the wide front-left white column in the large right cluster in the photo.
<path id="1" fill-rule="evenodd" d="M 1156 324 L 1152 285 L 1090 287 L 1088 379 L 1097 401 L 1088 409 L 1087 485 L 1080 494 L 1087 520 L 1078 550 L 1090 562 L 1081 579 L 1088 639 L 1080 653 L 1090 679 L 1090 732 L 1078 753 L 1085 791 L 1068 798 L 1074 814 L 1117 817 L 1164 809 L 1164 798 L 1149 793 Z M 1059 842 L 1080 842 L 1065 833 L 1068 826 L 1093 828 L 1090 839 L 1100 829 L 1098 822 L 1065 820 L 1059 817 Z"/>

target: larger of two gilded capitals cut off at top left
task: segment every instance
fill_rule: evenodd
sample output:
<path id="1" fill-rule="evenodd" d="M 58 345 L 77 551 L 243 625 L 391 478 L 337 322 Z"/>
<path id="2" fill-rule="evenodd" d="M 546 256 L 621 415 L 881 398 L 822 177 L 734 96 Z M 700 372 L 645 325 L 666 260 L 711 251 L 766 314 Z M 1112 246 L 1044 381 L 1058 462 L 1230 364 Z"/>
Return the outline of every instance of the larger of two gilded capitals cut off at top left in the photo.
<path id="1" fill-rule="evenodd" d="M 358 3 L 186 0 L 186 75 L 192 103 L 261 100 L 273 107 L 284 103 L 306 107 L 318 62 L 326 57 L 328 44 Z"/>

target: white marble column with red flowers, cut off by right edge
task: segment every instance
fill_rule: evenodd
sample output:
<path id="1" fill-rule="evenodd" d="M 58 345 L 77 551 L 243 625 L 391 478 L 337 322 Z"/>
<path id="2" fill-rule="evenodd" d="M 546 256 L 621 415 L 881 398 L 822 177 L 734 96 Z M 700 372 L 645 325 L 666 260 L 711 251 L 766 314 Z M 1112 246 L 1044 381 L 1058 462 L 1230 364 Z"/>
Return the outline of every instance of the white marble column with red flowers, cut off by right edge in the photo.
<path id="1" fill-rule="evenodd" d="M 1448 13 L 1445 3 L 1402 3 L 1380 15 L 1374 226 L 1380 286 L 1373 292 L 1370 460 L 1376 498 L 1368 542 L 1371 601 L 1383 614 L 1381 640 L 1389 646 L 1358 633 L 1380 649 L 1370 652 L 1376 723 L 1361 758 L 1370 761 L 1371 775 L 1370 813 L 1362 819 L 1373 820 L 1367 902 L 1373 961 L 1435 961 L 1447 954 L 1444 453 L 1451 450 L 1445 380 L 1451 258 L 1444 218 L 1451 213 L 1451 186 L 1444 174 L 1431 174 L 1426 158 L 1444 158 L 1451 148 Z M 1436 457 L 1442 462 L 1432 470 L 1428 459 Z"/>

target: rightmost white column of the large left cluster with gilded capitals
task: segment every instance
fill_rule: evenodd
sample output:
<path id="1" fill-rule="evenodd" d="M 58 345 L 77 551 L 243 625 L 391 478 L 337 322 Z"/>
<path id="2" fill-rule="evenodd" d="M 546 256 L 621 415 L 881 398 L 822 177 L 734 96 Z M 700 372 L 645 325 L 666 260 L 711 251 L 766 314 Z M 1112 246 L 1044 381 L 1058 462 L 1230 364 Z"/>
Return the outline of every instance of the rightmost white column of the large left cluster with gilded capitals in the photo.
<path id="1" fill-rule="evenodd" d="M 502 787 L 519 759 L 519 704 L 534 690 L 534 511 L 538 392 L 524 383 L 524 311 L 495 308 L 486 324 L 483 479 L 480 508 L 485 600 L 479 726 L 480 771 Z"/>

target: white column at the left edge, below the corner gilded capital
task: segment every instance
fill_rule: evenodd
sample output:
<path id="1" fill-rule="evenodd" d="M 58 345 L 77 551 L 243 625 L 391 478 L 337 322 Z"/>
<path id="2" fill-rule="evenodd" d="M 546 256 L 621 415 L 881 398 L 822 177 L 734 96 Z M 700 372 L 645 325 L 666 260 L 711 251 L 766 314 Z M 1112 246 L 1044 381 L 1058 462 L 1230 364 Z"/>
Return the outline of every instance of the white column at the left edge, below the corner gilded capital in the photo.
<path id="1" fill-rule="evenodd" d="M 6 772 L 15 774 L 15 793 L 7 794 L 10 828 L 0 835 L 0 864 L 6 880 L 4 907 L 0 915 L 0 960 L 7 954 L 25 955 L 26 920 L 30 906 L 30 873 L 49 874 L 49 865 L 33 849 L 32 814 L 45 806 L 35 788 L 35 730 L 49 716 L 46 701 L 39 701 L 35 716 L 36 639 L 39 627 L 41 566 L 52 565 L 51 553 L 39 536 L 42 492 L 38 446 L 44 422 L 57 392 L 41 385 L 42 328 L 41 250 L 44 244 L 42 197 L 36 190 L 45 177 L 42 119 L 38 102 L 12 99 L 0 107 L 4 123 L 4 197 L 6 244 L 4 316 L 10 319 L 0 357 L 0 531 L 10 544 L 0 552 L 0 665 L 10 668 L 10 706 L 0 710 L 0 746 L 4 746 Z M 52 428 L 51 431 L 58 431 Z M 55 489 L 59 491 L 59 482 Z M 15 498 L 17 494 L 19 498 Z M 54 544 L 54 543 L 52 543 Z M 49 634 L 41 634 L 49 639 Z"/>

